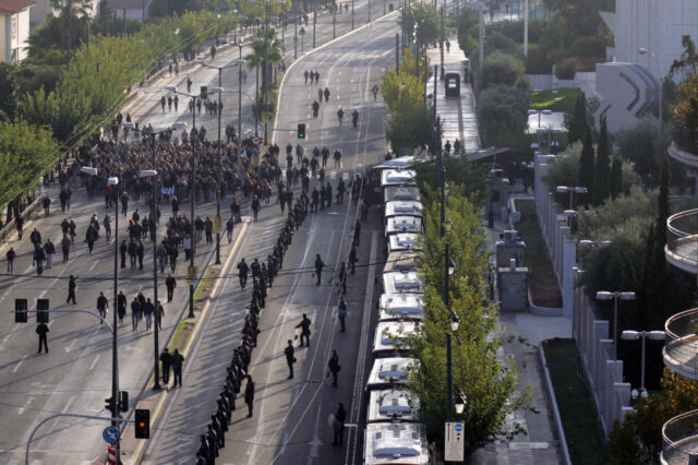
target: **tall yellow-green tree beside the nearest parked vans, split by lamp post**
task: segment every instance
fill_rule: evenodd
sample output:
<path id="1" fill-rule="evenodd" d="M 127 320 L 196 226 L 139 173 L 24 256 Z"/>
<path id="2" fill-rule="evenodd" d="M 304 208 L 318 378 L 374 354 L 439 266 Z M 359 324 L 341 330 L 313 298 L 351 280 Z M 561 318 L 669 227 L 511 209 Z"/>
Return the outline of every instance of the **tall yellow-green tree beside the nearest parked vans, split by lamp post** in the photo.
<path id="1" fill-rule="evenodd" d="M 425 284 L 426 311 L 423 330 L 410 338 L 412 354 L 420 368 L 410 372 L 410 389 L 419 396 L 420 421 L 425 425 L 430 440 L 443 444 L 446 418 L 446 333 L 450 331 L 450 312 L 460 319 L 453 337 L 454 392 L 462 391 L 468 398 L 459 420 L 469 425 L 465 431 L 466 454 L 506 433 L 507 415 L 527 408 L 530 389 L 515 394 L 517 371 L 509 363 L 497 361 L 502 342 L 491 337 L 495 331 L 496 311 L 486 302 L 483 271 L 482 225 L 476 205 L 464 194 L 462 188 L 449 184 L 446 217 L 449 228 L 440 237 L 440 206 L 425 199 L 429 208 L 422 237 L 420 273 Z M 442 298 L 444 245 L 448 241 L 456 271 L 452 276 L 450 306 Z M 520 431 L 520 427 L 514 432 Z"/>

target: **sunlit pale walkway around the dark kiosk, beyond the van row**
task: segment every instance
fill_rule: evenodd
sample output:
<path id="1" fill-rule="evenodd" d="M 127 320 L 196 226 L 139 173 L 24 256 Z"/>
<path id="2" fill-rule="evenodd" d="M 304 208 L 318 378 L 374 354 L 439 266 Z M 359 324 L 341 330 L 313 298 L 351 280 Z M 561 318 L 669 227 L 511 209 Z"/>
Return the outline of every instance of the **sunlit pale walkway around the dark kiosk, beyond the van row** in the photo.
<path id="1" fill-rule="evenodd" d="M 466 64 L 466 56 L 458 47 L 458 37 L 448 37 L 450 50 L 444 46 L 444 69 L 446 72 L 458 72 L 461 76 L 460 98 L 446 98 L 445 82 L 438 79 L 436 86 L 436 112 L 441 118 L 443 130 L 442 144 L 450 142 L 453 146 L 456 140 L 460 141 L 466 153 L 471 154 L 480 150 L 480 134 L 478 132 L 478 118 L 476 115 L 476 99 L 470 83 L 462 81 Z M 426 50 L 432 72 L 434 65 L 441 67 L 441 51 L 438 47 Z M 426 95 L 433 95 L 434 78 L 426 83 Z"/>

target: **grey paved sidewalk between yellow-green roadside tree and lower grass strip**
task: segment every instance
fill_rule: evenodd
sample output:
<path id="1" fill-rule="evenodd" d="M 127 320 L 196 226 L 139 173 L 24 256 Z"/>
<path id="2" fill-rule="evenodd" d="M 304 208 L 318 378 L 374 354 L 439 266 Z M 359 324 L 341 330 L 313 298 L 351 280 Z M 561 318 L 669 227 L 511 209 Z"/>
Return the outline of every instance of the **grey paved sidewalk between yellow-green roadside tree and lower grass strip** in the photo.
<path id="1" fill-rule="evenodd" d="M 508 225 L 496 219 L 494 228 L 485 228 L 489 248 L 495 252 L 495 242 Z M 495 301 L 498 291 L 495 285 Z M 541 341 L 552 337 L 571 337 L 571 321 L 564 317 L 538 317 L 528 312 L 500 313 L 500 329 L 505 343 L 497 351 L 497 358 L 506 363 L 508 357 L 518 367 L 520 378 L 516 394 L 531 388 L 530 410 L 516 410 L 505 420 L 505 430 L 513 431 L 518 425 L 527 430 L 510 442 L 504 438 L 476 452 L 476 462 L 484 465 L 553 465 L 562 463 L 562 452 L 555 431 L 550 403 L 544 389 L 544 374 L 538 357 Z"/>

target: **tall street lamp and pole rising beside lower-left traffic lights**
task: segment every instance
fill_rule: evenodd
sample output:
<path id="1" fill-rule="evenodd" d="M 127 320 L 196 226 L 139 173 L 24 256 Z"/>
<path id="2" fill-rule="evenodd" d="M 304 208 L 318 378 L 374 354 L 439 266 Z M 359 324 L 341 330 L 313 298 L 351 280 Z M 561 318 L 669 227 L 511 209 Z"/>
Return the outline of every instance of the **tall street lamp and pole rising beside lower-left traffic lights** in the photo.
<path id="1" fill-rule="evenodd" d="M 119 285 L 119 178 L 116 176 L 109 176 L 107 178 L 103 178 L 97 176 L 97 168 L 92 166 L 83 166 L 80 169 L 81 172 L 84 172 L 88 176 L 95 176 L 103 180 L 107 181 L 107 186 L 113 186 L 117 189 L 117 198 L 113 203 L 113 311 L 112 314 L 112 331 L 111 331 L 111 418 L 118 418 L 119 416 L 119 346 L 117 344 L 117 332 L 118 332 L 118 311 L 119 308 L 119 295 L 118 295 L 118 285 Z M 111 426 L 116 427 L 117 422 L 111 421 Z M 117 457 L 120 455 L 120 441 L 117 440 Z"/>

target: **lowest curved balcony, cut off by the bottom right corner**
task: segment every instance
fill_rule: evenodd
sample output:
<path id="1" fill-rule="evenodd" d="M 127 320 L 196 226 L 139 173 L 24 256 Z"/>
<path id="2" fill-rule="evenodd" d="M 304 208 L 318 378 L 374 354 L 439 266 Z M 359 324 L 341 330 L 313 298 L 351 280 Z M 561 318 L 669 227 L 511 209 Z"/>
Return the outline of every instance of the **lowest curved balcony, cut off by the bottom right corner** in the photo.
<path id="1" fill-rule="evenodd" d="M 662 427 L 662 465 L 688 465 L 698 454 L 698 410 L 686 412 Z"/>

